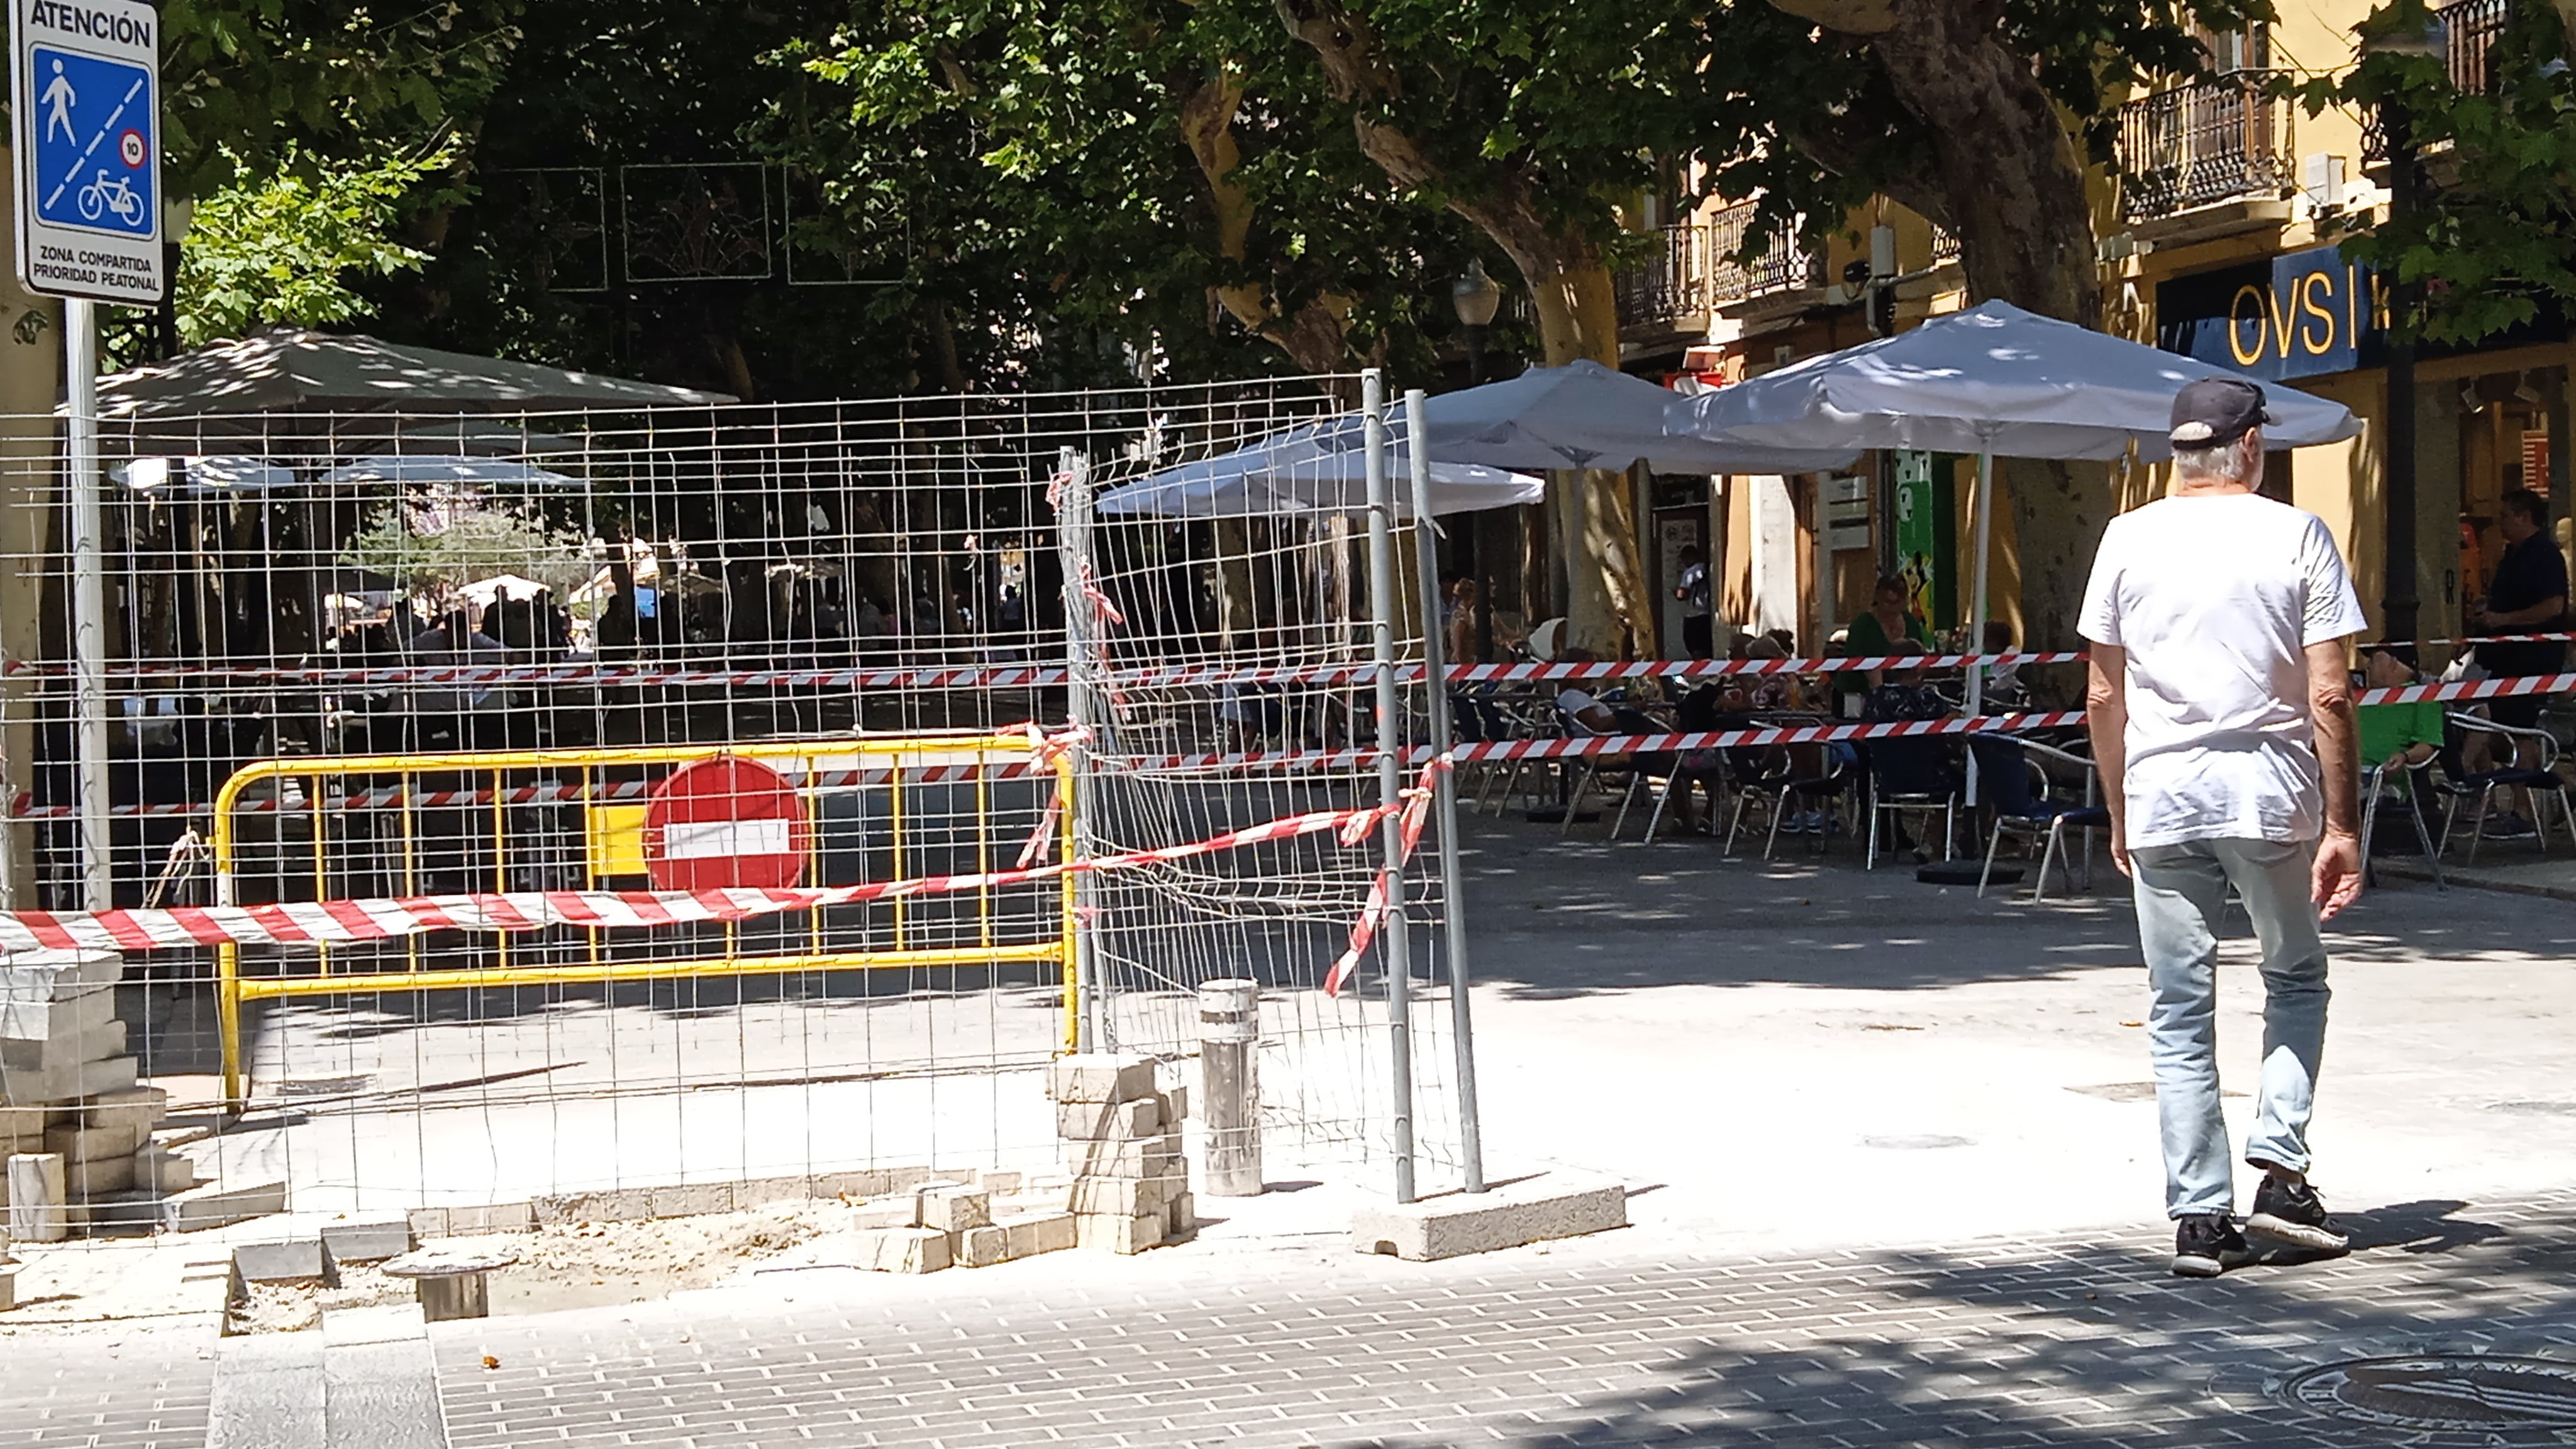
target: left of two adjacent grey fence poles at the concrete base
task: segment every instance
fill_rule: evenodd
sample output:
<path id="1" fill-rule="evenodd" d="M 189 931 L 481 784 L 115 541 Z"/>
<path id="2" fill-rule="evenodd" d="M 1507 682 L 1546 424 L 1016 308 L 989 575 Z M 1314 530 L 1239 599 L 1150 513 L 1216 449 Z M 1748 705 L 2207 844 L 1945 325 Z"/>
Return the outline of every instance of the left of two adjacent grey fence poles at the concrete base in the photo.
<path id="1" fill-rule="evenodd" d="M 1368 418 L 1368 634 L 1378 665 L 1378 804 L 1404 799 L 1404 709 L 1396 699 L 1396 487 L 1386 477 L 1386 376 L 1360 374 L 1360 413 Z M 1419 451 L 1419 449 L 1417 449 Z M 1414 1201 L 1414 951 L 1404 928 L 1404 820 L 1386 815 L 1386 1036 L 1396 1129 L 1396 1201 Z"/>

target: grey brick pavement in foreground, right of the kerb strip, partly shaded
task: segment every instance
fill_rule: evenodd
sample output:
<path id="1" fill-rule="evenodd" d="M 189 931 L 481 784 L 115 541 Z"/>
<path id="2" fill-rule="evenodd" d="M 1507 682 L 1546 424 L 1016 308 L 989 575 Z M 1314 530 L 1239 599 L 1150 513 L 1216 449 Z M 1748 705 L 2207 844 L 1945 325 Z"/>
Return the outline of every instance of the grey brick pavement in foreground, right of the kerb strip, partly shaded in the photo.
<path id="1" fill-rule="evenodd" d="M 1043 1261 L 992 1287 L 850 1274 L 433 1333 L 459 1446 L 2576 1441 L 2576 1415 L 2406 1436 L 2267 1395 L 2424 1343 L 2576 1361 L 2576 1194 L 2347 1217 L 2362 1253 L 2215 1284 L 2166 1276 L 2146 1230 L 1801 1258 L 1654 1256 L 1631 1232 L 1427 1266 L 1309 1248 L 1133 1287 Z"/>

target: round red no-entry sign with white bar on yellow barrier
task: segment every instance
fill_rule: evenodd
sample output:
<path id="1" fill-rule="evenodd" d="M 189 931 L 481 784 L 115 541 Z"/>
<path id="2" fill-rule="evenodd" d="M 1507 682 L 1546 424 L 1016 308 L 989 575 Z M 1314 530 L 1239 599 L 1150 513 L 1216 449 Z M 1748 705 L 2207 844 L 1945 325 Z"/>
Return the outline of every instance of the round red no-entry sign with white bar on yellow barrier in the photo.
<path id="1" fill-rule="evenodd" d="M 796 786 L 734 755 L 667 773 L 644 812 L 644 866 L 657 890 L 791 890 L 811 843 Z"/>

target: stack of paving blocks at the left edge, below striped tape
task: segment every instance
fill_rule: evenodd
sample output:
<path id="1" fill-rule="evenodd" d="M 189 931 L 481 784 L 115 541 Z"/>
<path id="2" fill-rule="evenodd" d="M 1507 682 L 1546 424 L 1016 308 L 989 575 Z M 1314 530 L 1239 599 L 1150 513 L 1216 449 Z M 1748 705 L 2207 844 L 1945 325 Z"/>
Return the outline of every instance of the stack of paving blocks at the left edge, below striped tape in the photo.
<path id="1" fill-rule="evenodd" d="M 155 1222 L 196 1183 L 188 1158 L 152 1142 L 170 1093 L 137 1085 L 121 975 L 116 951 L 0 957 L 0 1207 L 18 1238 Z"/>

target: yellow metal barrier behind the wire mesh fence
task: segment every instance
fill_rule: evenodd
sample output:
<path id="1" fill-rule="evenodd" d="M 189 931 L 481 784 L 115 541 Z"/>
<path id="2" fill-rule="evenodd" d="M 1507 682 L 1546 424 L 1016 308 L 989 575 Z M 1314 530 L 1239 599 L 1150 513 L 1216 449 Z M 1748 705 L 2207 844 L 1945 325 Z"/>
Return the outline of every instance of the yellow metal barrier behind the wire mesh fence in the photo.
<path id="1" fill-rule="evenodd" d="M 1025 835 L 994 835 L 992 828 L 992 781 L 997 771 L 1007 766 L 1030 766 L 1030 743 L 1025 735 L 858 735 L 858 737 L 809 737 L 809 740 L 760 740 L 744 745 L 629 745 L 629 748 L 600 748 L 600 750 L 474 750 L 474 753 L 446 753 L 446 755 L 337 755 L 337 758 L 296 758 L 296 761 L 260 761 L 240 768 L 224 781 L 224 789 L 214 802 L 214 877 L 216 877 L 216 902 L 240 905 L 240 869 L 245 835 L 242 825 L 255 817 L 278 820 L 276 846 L 278 856 L 286 856 L 291 822 L 309 822 L 301 846 L 312 851 L 312 900 L 345 900 L 368 895 L 466 895 L 466 892 L 505 892 L 505 890 L 600 890 L 603 882 L 631 879 L 644 869 L 644 810 L 639 799 L 647 773 L 662 773 L 675 766 L 693 761 L 708 761 L 719 755 L 760 761 L 781 773 L 801 776 L 801 799 L 806 807 L 806 882 L 809 884 L 842 884 L 824 882 L 824 846 L 827 830 L 822 828 L 822 797 L 835 792 L 868 792 L 886 789 L 889 794 L 889 843 L 891 843 L 891 871 L 881 879 L 907 877 L 907 835 L 912 835 L 909 874 L 925 874 L 920 861 L 925 846 L 920 835 L 930 833 L 925 822 L 904 817 L 904 792 L 922 789 L 927 784 L 958 784 L 971 781 L 974 807 L 966 815 L 951 815 L 951 822 L 969 822 L 974 830 L 971 841 L 971 869 L 992 871 L 1010 869 L 1018 859 L 1018 846 Z M 1054 810 L 1059 830 L 1061 859 L 1072 859 L 1074 851 L 1074 781 L 1072 763 L 1056 758 L 1051 766 L 1036 766 L 1054 776 Z M 634 776 L 623 781 L 611 781 L 605 776 L 621 773 Z M 425 776 L 438 776 L 438 786 L 422 786 Z M 544 776 L 538 784 L 510 784 L 513 776 Z M 386 789 L 374 781 L 394 779 L 397 786 Z M 337 784 L 337 794 L 327 786 Z M 260 786 L 268 786 L 260 792 Z M 482 825 L 469 825 L 471 810 L 489 804 L 489 835 Z M 513 810 L 559 807 L 580 810 L 580 848 L 564 851 L 577 856 L 572 871 L 556 859 L 559 884 L 513 884 L 513 871 L 531 871 L 526 859 L 513 859 Z M 425 833 L 422 815 L 443 812 L 461 830 Z M 358 861 L 348 861 L 350 841 L 358 835 L 355 828 L 332 833 L 330 820 L 384 820 L 392 815 L 399 820 L 399 835 L 389 843 L 394 848 L 394 861 L 366 869 Z M 554 833 L 554 846 L 564 846 L 562 830 Z M 379 843 L 379 841 L 371 841 Z M 489 848 L 489 884 L 466 884 L 466 890 L 430 890 L 438 884 L 440 871 L 430 856 L 433 851 L 446 851 L 448 856 L 461 856 L 469 864 L 464 869 L 443 871 L 443 877 L 456 879 L 459 874 L 482 874 L 482 864 L 471 856 Z M 956 851 L 956 841 L 948 848 Z M 350 887 L 361 879 L 384 877 L 386 890 L 332 890 L 335 879 L 335 851 L 343 856 L 340 882 Z M 999 853 L 997 853 L 999 851 Z M 868 859 L 866 843 L 866 817 L 860 817 L 860 859 Z M 577 874 L 562 879 L 564 874 Z M 953 871 L 927 871 L 927 874 L 953 874 Z M 278 871 L 276 879 L 283 879 Z M 639 882 L 641 887 L 641 882 Z M 1077 1024 L 1082 1018 L 1082 982 L 1077 969 L 1077 944 L 1079 915 L 1074 910 L 1074 877 L 1061 877 L 1054 895 L 1054 936 L 1036 941 L 999 941 L 994 918 L 994 890 L 979 890 L 976 897 L 976 928 L 971 941 L 940 941 L 940 944 L 914 944 L 912 938 L 922 928 L 912 920 L 920 910 L 917 902 L 953 900 L 953 897 L 896 897 L 884 905 L 891 915 L 891 944 L 866 946 L 866 949 L 829 949 L 824 913 L 806 913 L 806 941 L 804 949 L 793 951 L 768 951 L 752 954 L 742 949 L 742 926 L 724 926 L 724 951 L 711 957 L 618 957 L 616 949 L 623 944 L 618 938 L 634 941 L 639 931 L 585 931 L 585 928 L 554 928 L 562 933 L 587 938 L 582 951 L 585 959 L 518 959 L 513 962 L 510 933 L 495 933 L 489 951 L 497 957 L 489 967 L 430 967 L 422 962 L 422 938 L 402 936 L 389 941 L 402 951 L 399 969 L 384 969 L 379 964 L 361 964 L 355 969 L 335 969 L 332 949 L 319 946 L 309 969 L 289 969 L 281 975 L 242 975 L 240 946 L 224 944 L 216 949 L 216 1003 L 219 1003 L 219 1031 L 222 1031 L 222 1057 L 224 1057 L 224 1101 L 240 1106 L 245 1101 L 245 1070 L 242 1070 L 242 1003 L 245 1000 L 270 1000 L 270 998 L 301 998 L 301 995 L 345 995 L 345 993 L 384 993 L 384 990 L 464 990 L 464 987 L 518 987 L 518 985 L 585 985 L 585 982 L 631 982 L 631 980 L 685 980 L 685 977 L 747 977 L 747 975 L 788 975 L 788 972 L 840 972 L 840 969 L 904 969 L 904 967 L 984 967 L 984 964 L 1010 964 L 1010 962 L 1054 962 L 1064 977 L 1064 1049 L 1072 1052 L 1077 1044 Z M 775 918 L 778 923 L 793 920 L 793 915 Z M 706 931 L 703 926 L 696 931 Z M 520 957 L 536 954 L 526 946 L 518 949 Z"/>

